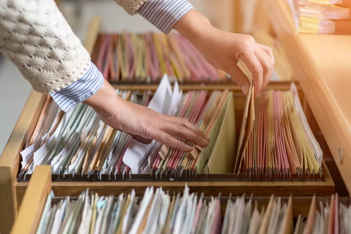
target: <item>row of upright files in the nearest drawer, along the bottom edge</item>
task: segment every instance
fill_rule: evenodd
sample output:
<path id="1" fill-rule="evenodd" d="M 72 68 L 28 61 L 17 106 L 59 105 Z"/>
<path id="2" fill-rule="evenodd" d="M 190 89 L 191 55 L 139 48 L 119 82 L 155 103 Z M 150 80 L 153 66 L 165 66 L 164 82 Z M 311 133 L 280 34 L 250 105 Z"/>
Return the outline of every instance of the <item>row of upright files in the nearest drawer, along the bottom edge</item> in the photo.
<path id="1" fill-rule="evenodd" d="M 169 194 L 161 187 L 148 187 L 144 197 L 134 190 L 118 197 L 99 196 L 86 190 L 78 199 L 47 197 L 37 234 L 339 234 L 351 233 L 351 207 L 330 200 L 310 200 L 307 217 L 293 217 L 293 199 L 272 195 L 265 204 L 241 197 L 199 197 L 185 185 L 183 195 Z M 300 205 L 300 204 L 298 204 Z M 309 204 L 306 204 L 307 206 Z"/>

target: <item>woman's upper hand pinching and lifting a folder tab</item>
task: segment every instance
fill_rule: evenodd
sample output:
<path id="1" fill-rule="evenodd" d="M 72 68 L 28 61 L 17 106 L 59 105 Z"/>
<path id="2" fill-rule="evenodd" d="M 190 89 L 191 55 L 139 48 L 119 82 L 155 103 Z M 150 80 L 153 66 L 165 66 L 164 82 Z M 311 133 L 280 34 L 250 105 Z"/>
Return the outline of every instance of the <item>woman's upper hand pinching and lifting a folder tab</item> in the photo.
<path id="1" fill-rule="evenodd" d="M 214 28 L 196 10 L 186 13 L 174 26 L 213 66 L 224 70 L 248 93 L 250 81 L 238 67 L 239 60 L 251 71 L 254 95 L 270 81 L 274 68 L 271 48 L 257 43 L 251 35 L 229 33 Z"/>

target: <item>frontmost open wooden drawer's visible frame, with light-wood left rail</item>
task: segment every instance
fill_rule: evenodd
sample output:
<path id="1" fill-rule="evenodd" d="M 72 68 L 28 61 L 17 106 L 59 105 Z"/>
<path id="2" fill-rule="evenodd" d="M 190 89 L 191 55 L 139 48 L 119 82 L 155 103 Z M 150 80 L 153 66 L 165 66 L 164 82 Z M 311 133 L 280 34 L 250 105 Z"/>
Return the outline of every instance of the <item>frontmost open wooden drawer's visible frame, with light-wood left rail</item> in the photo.
<path id="1" fill-rule="evenodd" d="M 46 165 L 37 166 L 29 181 L 29 185 L 25 192 L 24 199 L 19 208 L 18 217 L 12 227 L 12 230 L 11 230 L 12 234 L 17 234 L 17 233 L 30 234 L 30 233 L 36 232 L 45 203 L 46 203 L 46 198 L 48 194 L 52 191 L 52 189 L 53 187 L 51 183 L 51 168 Z M 95 193 L 97 191 L 92 189 L 92 192 Z M 118 192 L 115 192 L 115 191 L 111 191 L 111 193 L 114 193 L 114 195 L 118 195 Z M 70 196 L 70 199 L 77 198 L 78 194 L 76 193 L 72 194 L 69 192 L 67 193 L 67 195 Z M 256 197 L 255 194 L 253 195 L 254 196 L 251 199 L 252 199 L 252 202 L 257 202 L 258 211 L 261 211 L 263 206 L 268 211 L 269 210 L 268 205 L 270 203 L 271 197 L 270 196 Z M 141 194 L 139 197 L 140 199 L 138 198 L 137 200 L 140 201 L 142 197 L 143 197 L 143 194 Z M 280 198 L 281 198 L 282 204 L 283 203 L 287 204 L 286 213 L 284 214 L 285 218 L 283 219 L 284 221 L 282 222 L 282 226 L 280 227 L 280 230 L 281 230 L 280 233 L 292 233 L 292 230 L 294 230 L 294 226 L 295 226 L 293 220 L 297 218 L 299 215 L 301 215 L 304 218 L 304 220 L 306 220 L 306 218 L 309 216 L 312 201 L 314 200 L 312 196 L 309 196 L 309 197 L 292 196 L 292 197 L 280 197 Z M 58 204 L 58 202 L 60 202 L 61 199 L 62 197 L 59 197 L 57 196 L 57 194 L 55 194 L 55 196 L 52 199 L 52 205 Z M 205 197 L 204 199 L 208 201 L 211 200 L 209 197 L 207 198 Z M 234 201 L 236 199 L 236 196 L 233 196 L 231 199 Z M 250 199 L 250 196 L 245 197 L 246 202 L 249 201 L 249 199 Z M 325 202 L 329 202 L 330 197 L 317 197 L 314 199 L 316 204 L 318 204 L 319 202 L 323 202 L 324 204 Z M 225 197 L 225 196 L 223 197 L 221 195 L 220 204 L 221 204 L 222 217 L 224 217 L 225 215 L 227 201 L 228 201 L 228 197 Z M 350 198 L 339 197 L 338 202 L 340 204 L 347 205 L 347 204 L 350 204 Z M 308 220 L 309 219 L 307 219 L 307 222 L 309 222 Z M 282 232 L 282 230 L 284 232 Z"/>

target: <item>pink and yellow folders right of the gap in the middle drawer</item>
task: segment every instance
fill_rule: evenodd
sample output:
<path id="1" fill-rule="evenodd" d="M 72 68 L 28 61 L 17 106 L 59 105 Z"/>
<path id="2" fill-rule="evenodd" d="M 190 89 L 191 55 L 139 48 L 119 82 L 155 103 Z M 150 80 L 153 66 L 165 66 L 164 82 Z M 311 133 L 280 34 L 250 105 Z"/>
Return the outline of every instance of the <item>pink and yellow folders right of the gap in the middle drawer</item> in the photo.
<path id="1" fill-rule="evenodd" d="M 321 173 L 323 152 L 303 112 L 296 86 L 246 98 L 234 173 Z"/>

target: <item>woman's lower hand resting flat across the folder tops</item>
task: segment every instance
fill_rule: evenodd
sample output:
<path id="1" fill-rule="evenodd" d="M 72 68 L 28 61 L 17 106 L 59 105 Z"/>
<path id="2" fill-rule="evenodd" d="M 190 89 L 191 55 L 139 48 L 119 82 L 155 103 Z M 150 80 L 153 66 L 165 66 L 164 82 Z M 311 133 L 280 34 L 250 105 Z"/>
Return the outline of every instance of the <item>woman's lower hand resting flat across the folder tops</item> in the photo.
<path id="1" fill-rule="evenodd" d="M 90 105 L 105 124 L 127 132 L 146 144 L 156 140 L 181 151 L 190 152 L 191 146 L 173 137 L 190 140 L 201 147 L 206 147 L 210 140 L 185 119 L 161 115 L 145 106 L 125 101 L 107 81 L 84 103 Z"/>

